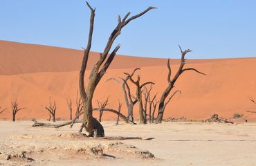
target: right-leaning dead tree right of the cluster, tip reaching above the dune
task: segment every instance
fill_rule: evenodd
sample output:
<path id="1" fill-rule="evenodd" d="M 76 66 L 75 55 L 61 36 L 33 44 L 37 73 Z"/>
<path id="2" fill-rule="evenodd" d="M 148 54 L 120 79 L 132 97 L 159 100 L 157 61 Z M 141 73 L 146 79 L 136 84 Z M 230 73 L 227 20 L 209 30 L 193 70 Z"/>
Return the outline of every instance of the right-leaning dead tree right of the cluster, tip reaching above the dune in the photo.
<path id="1" fill-rule="evenodd" d="M 172 91 L 172 89 L 174 88 L 175 82 L 176 80 L 178 80 L 179 76 L 182 75 L 182 73 L 184 73 L 185 71 L 195 71 L 196 73 L 205 75 L 204 73 L 201 73 L 200 71 L 197 71 L 195 68 L 183 68 L 185 65 L 185 55 L 189 52 L 191 52 L 192 50 L 188 49 L 188 50 L 182 50 L 181 46 L 179 46 L 180 50 L 181 50 L 181 64 L 179 66 L 178 71 L 176 72 L 176 74 L 174 75 L 174 77 L 171 79 L 171 75 L 172 75 L 172 70 L 171 70 L 171 66 L 170 66 L 170 59 L 167 60 L 167 68 L 168 68 L 168 76 L 167 76 L 167 82 L 168 82 L 168 86 L 165 89 L 165 91 L 163 91 L 163 94 L 161 96 L 161 99 L 159 101 L 159 105 L 158 105 L 158 116 L 156 118 L 156 123 L 161 123 L 163 120 L 163 113 L 165 111 L 165 107 L 167 106 L 167 104 L 170 102 L 170 100 L 172 99 L 172 97 L 181 91 L 175 91 L 171 97 L 167 100 L 167 102 L 165 102 L 165 99 L 168 97 L 168 95 L 170 94 L 170 92 Z"/>

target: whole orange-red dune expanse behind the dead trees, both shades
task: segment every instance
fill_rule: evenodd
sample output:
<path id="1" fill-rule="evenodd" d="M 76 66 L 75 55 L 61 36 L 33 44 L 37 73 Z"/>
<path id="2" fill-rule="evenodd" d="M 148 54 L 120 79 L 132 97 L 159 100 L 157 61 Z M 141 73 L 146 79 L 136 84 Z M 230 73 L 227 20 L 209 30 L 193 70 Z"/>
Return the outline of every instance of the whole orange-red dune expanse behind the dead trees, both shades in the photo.
<path id="1" fill-rule="evenodd" d="M 20 107 L 29 110 L 17 113 L 17 119 L 48 118 L 44 106 L 49 97 L 57 103 L 57 118 L 68 118 L 66 98 L 73 100 L 78 89 L 78 72 L 82 60 L 82 50 L 20 44 L 0 41 L 0 107 L 8 112 L 0 118 L 11 118 L 10 102 L 17 98 Z M 89 66 L 98 59 L 99 53 L 91 53 Z M 154 93 L 160 98 L 167 85 L 166 59 L 131 57 L 117 55 L 106 75 L 102 78 L 94 95 L 96 100 L 105 100 L 109 96 L 109 106 L 117 109 L 118 100 L 122 102 L 122 113 L 126 113 L 122 89 L 116 82 L 105 82 L 109 77 L 122 77 L 123 72 L 131 72 L 140 67 L 143 81 L 154 81 Z M 172 59 L 173 72 L 178 59 Z M 185 73 L 176 82 L 176 89 L 182 91 L 176 95 L 165 110 L 165 118 L 182 117 L 202 120 L 213 113 L 226 118 L 233 113 L 243 113 L 248 120 L 256 121 L 256 105 L 248 100 L 256 99 L 256 58 L 240 59 L 188 59 L 187 66 L 193 66 L 206 76 L 192 71 Z M 88 77 L 90 71 L 86 71 Z M 134 91 L 134 89 L 132 88 Z M 134 113 L 138 117 L 138 110 Z M 98 117 L 98 115 L 95 116 Z M 113 119 L 116 115 L 104 113 L 103 119 Z"/>

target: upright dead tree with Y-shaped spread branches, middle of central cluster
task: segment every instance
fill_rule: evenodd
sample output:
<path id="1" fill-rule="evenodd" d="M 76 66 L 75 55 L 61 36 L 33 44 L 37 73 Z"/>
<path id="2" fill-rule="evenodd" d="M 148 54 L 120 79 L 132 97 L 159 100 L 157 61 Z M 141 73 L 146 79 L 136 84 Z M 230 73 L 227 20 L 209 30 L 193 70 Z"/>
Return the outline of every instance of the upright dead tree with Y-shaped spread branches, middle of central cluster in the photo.
<path id="1" fill-rule="evenodd" d="M 142 90 L 143 87 L 147 84 L 154 84 L 154 82 L 145 82 L 140 84 L 140 75 L 137 75 L 137 80 L 135 81 L 129 73 L 125 73 L 129 77 L 129 80 L 136 86 L 136 100 L 138 101 L 138 111 L 140 115 L 140 124 L 146 124 L 147 119 L 144 116 L 144 108 L 143 108 L 143 98 L 142 98 Z"/>

